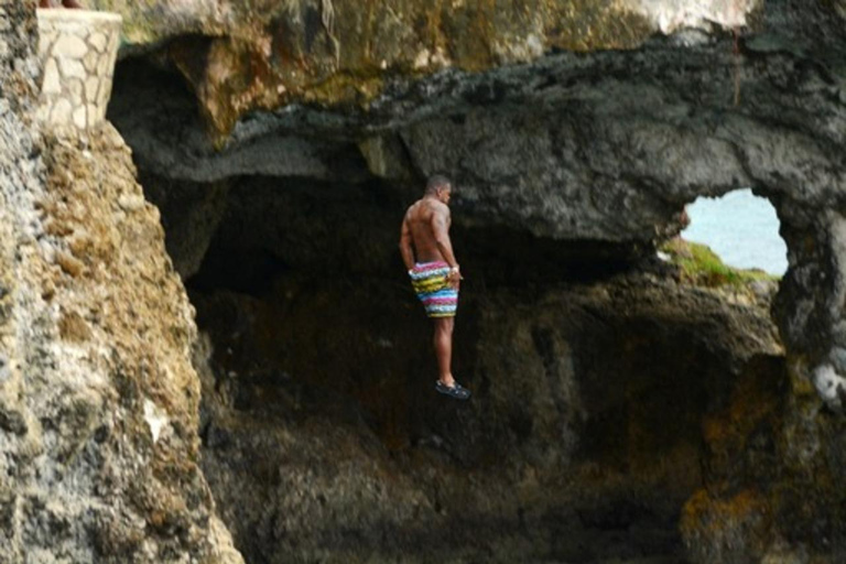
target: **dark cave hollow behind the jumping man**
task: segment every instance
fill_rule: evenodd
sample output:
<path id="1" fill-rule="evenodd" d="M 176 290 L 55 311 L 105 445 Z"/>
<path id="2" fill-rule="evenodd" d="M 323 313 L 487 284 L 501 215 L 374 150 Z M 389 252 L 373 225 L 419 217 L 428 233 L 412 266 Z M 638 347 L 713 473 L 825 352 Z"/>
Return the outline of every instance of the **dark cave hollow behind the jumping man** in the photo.
<path id="1" fill-rule="evenodd" d="M 747 433 L 774 456 L 766 307 L 646 268 L 648 245 L 465 220 L 460 195 L 454 369 L 475 399 L 443 401 L 397 252 L 417 173 L 378 177 L 355 140 L 285 134 L 221 164 L 193 144 L 191 91 L 128 63 L 112 119 L 196 308 L 204 474 L 248 562 L 676 557 L 720 456 Z M 276 141 L 297 154 L 245 170 Z M 195 176 L 169 169 L 182 156 Z"/>

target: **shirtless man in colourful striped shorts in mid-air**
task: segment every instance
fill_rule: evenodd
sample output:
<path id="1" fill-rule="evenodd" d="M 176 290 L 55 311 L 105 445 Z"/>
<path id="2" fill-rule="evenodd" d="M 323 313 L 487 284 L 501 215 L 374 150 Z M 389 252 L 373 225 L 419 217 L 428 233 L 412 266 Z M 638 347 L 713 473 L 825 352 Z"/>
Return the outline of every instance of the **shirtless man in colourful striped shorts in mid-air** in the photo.
<path id="1" fill-rule="evenodd" d="M 449 196 L 452 185 L 435 175 L 426 193 L 415 202 L 402 220 L 400 252 L 411 276 L 411 284 L 423 302 L 426 315 L 435 323 L 435 357 L 440 372 L 435 390 L 457 400 L 467 400 L 469 390 L 453 378 L 453 326 L 458 306 L 462 274 L 449 241 Z"/>

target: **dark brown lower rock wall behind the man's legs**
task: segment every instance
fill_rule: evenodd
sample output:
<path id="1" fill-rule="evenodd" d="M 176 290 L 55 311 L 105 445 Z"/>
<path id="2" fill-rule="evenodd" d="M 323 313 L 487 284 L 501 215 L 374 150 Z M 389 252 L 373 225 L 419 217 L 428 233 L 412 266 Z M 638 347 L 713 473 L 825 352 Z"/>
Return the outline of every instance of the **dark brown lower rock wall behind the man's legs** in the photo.
<path id="1" fill-rule="evenodd" d="M 785 401 L 766 308 L 648 274 L 466 278 L 466 405 L 432 390 L 408 288 L 283 274 L 260 293 L 192 293 L 213 344 L 203 468 L 248 562 L 684 557 L 701 462 Z"/>

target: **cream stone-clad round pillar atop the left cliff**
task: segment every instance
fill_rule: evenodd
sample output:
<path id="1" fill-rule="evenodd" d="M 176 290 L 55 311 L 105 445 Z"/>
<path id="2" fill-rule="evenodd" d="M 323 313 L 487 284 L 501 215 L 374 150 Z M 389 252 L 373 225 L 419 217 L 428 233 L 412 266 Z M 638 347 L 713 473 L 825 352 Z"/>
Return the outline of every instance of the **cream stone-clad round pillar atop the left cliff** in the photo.
<path id="1" fill-rule="evenodd" d="M 97 126 L 111 96 L 121 17 L 58 9 L 37 14 L 44 64 L 39 117 L 56 130 Z"/>

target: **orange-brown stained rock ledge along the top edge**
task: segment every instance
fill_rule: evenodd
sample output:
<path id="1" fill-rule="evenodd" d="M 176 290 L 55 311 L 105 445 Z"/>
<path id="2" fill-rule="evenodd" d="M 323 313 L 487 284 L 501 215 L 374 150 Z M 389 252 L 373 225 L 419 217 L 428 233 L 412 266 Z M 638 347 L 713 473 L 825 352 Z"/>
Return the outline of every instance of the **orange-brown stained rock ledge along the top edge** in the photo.
<path id="1" fill-rule="evenodd" d="M 215 131 L 292 101 L 355 106 L 394 76 L 484 70 L 552 48 L 630 48 L 655 32 L 745 25 L 760 0 L 584 1 L 288 0 L 130 2 L 119 11 L 135 45 L 164 40 Z M 178 39 L 202 34 L 207 39 Z"/>

